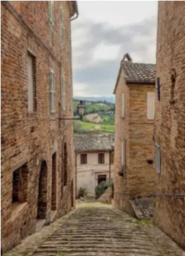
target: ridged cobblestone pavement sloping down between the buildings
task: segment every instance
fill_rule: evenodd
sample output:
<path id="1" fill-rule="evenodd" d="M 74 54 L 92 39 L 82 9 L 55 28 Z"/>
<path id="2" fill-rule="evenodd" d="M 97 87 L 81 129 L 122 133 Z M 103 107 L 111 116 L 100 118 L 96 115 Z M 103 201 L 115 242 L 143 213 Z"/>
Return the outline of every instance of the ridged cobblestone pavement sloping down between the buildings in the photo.
<path id="1" fill-rule="evenodd" d="M 151 221 L 112 205 L 81 203 L 69 215 L 27 237 L 5 256 L 185 256 Z"/>

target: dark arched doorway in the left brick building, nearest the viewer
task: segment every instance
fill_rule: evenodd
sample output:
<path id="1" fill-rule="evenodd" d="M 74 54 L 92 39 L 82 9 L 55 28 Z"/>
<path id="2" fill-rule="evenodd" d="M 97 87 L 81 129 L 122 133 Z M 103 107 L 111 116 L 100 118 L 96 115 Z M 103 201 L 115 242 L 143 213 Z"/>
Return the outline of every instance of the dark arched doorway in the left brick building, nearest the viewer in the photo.
<path id="1" fill-rule="evenodd" d="M 37 203 L 37 219 L 46 219 L 47 213 L 47 163 L 41 164 L 39 175 L 39 195 Z"/>

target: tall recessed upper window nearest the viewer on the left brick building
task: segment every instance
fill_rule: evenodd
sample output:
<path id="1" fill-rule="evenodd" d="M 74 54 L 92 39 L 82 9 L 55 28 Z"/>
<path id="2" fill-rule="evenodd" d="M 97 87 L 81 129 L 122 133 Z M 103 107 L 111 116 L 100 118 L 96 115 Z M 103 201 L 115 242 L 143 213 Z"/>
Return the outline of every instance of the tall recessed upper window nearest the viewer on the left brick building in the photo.
<path id="1" fill-rule="evenodd" d="M 36 110 L 36 59 L 35 56 L 27 54 L 28 72 L 28 111 Z"/>

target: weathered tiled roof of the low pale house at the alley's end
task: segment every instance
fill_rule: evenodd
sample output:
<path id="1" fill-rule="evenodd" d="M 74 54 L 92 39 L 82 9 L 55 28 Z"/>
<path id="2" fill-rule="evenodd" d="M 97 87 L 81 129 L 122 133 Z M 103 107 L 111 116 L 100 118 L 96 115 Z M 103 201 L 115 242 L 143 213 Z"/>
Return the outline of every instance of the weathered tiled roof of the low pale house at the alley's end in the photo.
<path id="1" fill-rule="evenodd" d="M 112 150 L 114 135 L 77 135 L 74 138 L 76 152 Z"/>

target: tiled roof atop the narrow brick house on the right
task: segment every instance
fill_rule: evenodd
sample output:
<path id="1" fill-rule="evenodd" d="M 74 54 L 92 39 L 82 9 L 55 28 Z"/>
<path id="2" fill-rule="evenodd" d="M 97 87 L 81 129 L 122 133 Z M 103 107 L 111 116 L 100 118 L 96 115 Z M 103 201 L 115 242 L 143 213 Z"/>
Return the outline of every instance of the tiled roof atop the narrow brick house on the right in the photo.
<path id="1" fill-rule="evenodd" d="M 156 65 L 121 61 L 127 84 L 155 84 Z"/>

